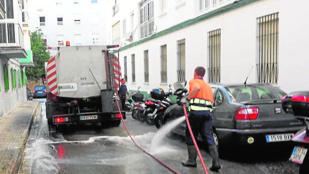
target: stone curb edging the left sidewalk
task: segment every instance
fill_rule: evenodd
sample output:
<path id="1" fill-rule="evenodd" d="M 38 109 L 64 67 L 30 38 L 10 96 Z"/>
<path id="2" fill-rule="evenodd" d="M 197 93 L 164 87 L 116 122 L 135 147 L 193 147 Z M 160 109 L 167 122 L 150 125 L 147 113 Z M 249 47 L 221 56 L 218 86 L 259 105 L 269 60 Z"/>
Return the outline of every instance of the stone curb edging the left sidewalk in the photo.
<path id="1" fill-rule="evenodd" d="M 33 111 L 32 111 L 31 122 L 29 124 L 29 128 L 27 130 L 25 139 L 23 140 L 23 144 L 20 147 L 20 151 L 19 151 L 18 156 L 16 158 L 15 165 L 13 166 L 12 170 L 10 171 L 11 174 L 17 174 L 18 173 L 18 170 L 20 168 L 20 164 L 21 164 L 21 161 L 22 161 L 22 158 L 23 158 L 23 151 L 25 149 L 25 145 L 27 143 L 27 140 L 28 140 L 28 137 L 29 137 L 29 133 L 30 133 L 30 130 L 31 130 L 31 126 L 33 124 L 33 119 L 34 119 L 34 116 L 36 117 L 39 114 L 38 113 L 40 111 L 39 108 L 40 108 L 40 102 L 37 103 L 35 109 L 33 109 Z"/>

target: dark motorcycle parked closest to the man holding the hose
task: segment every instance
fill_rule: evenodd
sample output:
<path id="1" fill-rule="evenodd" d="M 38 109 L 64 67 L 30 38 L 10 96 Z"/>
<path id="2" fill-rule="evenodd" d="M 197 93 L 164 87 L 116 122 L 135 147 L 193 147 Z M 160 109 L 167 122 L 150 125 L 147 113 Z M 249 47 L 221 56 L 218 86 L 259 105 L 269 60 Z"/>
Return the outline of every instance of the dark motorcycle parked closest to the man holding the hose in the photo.
<path id="1" fill-rule="evenodd" d="M 165 124 L 167 119 L 174 119 L 178 118 L 179 115 L 184 115 L 183 108 L 180 106 L 180 100 L 187 95 L 188 90 L 184 88 L 185 85 L 186 82 L 184 83 L 184 86 L 182 86 L 180 82 L 173 84 L 175 89 L 173 95 L 177 96 L 177 103 L 169 106 L 161 115 L 157 115 L 154 118 L 154 124 L 156 128 L 159 129 L 163 124 Z"/>

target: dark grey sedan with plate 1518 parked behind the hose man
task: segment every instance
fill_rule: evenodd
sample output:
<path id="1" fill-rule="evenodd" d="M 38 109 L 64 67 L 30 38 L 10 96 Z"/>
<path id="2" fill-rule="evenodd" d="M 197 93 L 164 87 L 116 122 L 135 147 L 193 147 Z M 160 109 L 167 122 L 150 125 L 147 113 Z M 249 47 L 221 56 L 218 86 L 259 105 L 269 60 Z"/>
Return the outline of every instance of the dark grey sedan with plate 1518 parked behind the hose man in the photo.
<path id="1" fill-rule="evenodd" d="M 284 143 L 305 125 L 283 112 L 285 92 L 266 84 L 211 85 L 214 138 L 219 148 Z M 185 123 L 174 129 L 184 135 Z"/>

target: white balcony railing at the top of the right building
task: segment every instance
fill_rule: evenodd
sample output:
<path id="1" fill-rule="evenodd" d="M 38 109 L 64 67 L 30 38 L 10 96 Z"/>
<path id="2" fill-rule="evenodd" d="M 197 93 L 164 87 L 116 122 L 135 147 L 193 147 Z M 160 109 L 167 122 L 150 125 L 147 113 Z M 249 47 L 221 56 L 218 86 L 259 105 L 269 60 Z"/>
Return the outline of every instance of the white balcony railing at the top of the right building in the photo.
<path id="1" fill-rule="evenodd" d="M 207 13 L 237 0 L 199 0 L 199 13 Z"/>

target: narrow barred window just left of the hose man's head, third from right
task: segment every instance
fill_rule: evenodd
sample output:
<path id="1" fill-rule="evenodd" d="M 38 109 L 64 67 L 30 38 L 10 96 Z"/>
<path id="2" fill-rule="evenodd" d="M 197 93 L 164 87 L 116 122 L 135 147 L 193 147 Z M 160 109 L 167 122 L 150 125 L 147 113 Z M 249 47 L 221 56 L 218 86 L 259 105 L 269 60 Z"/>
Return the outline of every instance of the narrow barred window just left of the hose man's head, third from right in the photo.
<path id="1" fill-rule="evenodd" d="M 185 39 L 177 41 L 177 81 L 185 82 Z"/>

